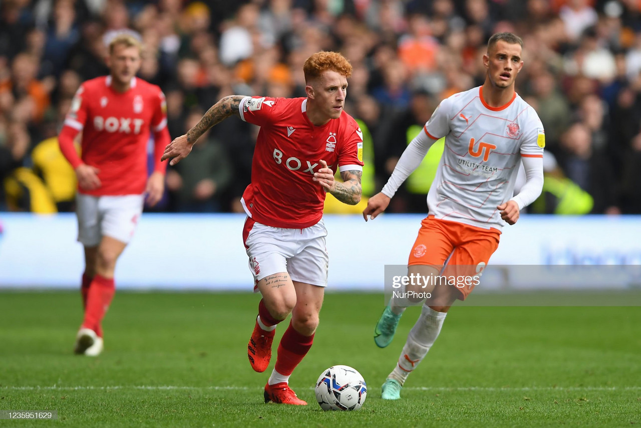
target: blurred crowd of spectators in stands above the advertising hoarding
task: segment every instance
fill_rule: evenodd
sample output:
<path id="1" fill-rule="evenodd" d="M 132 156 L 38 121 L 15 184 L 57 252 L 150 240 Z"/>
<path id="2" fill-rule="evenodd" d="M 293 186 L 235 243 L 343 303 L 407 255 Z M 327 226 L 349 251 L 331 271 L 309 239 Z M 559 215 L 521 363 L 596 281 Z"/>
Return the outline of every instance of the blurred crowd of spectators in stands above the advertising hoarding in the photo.
<path id="1" fill-rule="evenodd" d="M 2 0 L 0 210 L 74 208 L 56 134 L 79 84 L 108 73 L 106 42 L 122 31 L 144 42 L 139 76 L 165 92 L 172 138 L 223 96 L 304 96 L 304 60 L 343 53 L 365 196 L 441 99 L 483 83 L 488 37 L 512 31 L 525 44 L 517 92 L 547 143 L 529 210 L 641 213 L 641 0 Z M 168 169 L 155 210 L 241 211 L 256 132 L 237 118 L 212 128 Z M 426 212 L 438 150 L 388 211 Z"/>

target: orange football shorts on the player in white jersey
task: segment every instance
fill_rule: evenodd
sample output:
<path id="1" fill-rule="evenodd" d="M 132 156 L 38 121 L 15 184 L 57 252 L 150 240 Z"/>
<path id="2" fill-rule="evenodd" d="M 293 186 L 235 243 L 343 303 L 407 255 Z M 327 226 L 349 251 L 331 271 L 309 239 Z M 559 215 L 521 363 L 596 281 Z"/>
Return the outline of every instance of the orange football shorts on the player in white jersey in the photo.
<path id="1" fill-rule="evenodd" d="M 410 252 L 409 266 L 433 266 L 465 300 L 478 284 L 490 256 L 499 246 L 501 232 L 428 216 L 420 223 L 419 235 Z"/>

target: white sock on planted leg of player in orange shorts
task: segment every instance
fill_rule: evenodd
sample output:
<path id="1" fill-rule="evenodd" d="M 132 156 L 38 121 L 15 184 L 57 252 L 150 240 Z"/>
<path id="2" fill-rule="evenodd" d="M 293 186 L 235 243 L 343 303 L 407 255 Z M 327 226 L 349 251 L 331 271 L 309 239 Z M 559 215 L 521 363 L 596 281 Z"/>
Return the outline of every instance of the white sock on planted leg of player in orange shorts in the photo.
<path id="1" fill-rule="evenodd" d="M 419 319 L 410 330 L 407 341 L 399 356 L 399 361 L 388 377 L 399 381 L 401 385 L 405 379 L 417 368 L 419 363 L 428 354 L 429 348 L 438 338 L 447 312 L 437 312 L 429 306 L 423 305 Z"/>

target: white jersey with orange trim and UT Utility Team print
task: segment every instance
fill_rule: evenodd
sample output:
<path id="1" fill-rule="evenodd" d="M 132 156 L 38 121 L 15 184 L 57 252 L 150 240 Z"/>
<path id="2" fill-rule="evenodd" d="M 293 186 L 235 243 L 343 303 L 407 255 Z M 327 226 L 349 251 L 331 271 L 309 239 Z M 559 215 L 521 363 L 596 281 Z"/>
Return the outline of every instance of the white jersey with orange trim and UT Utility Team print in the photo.
<path id="1" fill-rule="evenodd" d="M 518 94 L 498 108 L 482 94 L 476 87 L 444 99 L 424 127 L 431 139 L 445 137 L 428 208 L 435 218 L 501 228 L 497 206 L 512 198 L 520 157 L 543 157 L 545 132 Z"/>

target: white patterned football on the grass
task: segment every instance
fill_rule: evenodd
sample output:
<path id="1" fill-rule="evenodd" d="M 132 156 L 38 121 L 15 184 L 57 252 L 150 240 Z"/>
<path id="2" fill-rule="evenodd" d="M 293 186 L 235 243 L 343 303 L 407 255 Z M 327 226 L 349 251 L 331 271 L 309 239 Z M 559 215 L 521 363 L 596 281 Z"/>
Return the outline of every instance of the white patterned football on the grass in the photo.
<path id="1" fill-rule="evenodd" d="M 366 396 L 365 379 L 350 366 L 331 366 L 316 382 L 316 400 L 323 410 L 358 410 Z"/>

